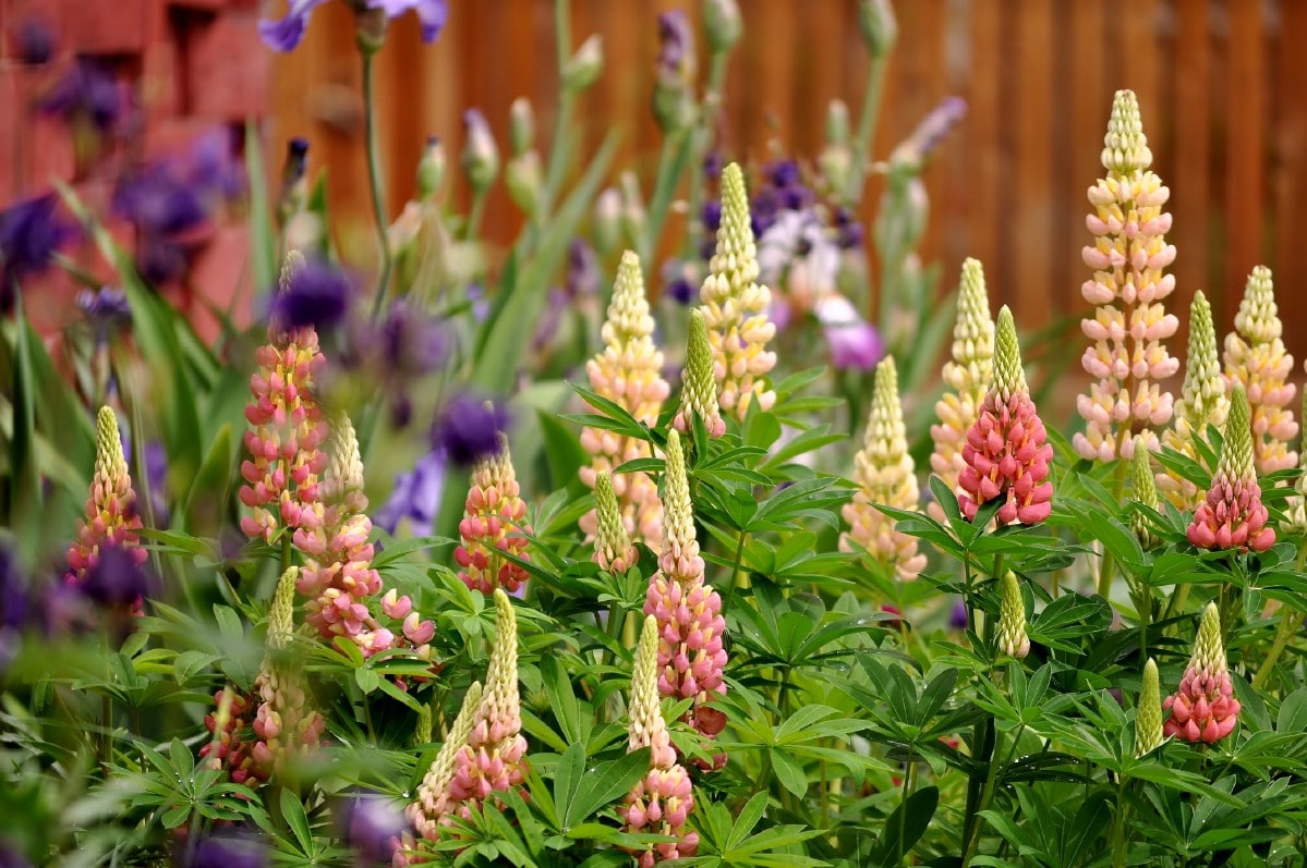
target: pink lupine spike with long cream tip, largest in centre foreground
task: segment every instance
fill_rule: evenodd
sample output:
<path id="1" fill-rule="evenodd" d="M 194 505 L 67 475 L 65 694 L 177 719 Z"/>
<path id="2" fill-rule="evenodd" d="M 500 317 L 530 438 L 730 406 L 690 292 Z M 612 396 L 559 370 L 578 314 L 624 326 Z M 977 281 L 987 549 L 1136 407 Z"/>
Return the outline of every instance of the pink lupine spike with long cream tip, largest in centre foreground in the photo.
<path id="1" fill-rule="evenodd" d="M 699 732 L 714 736 L 725 726 L 725 715 L 704 704 L 727 692 L 721 680 L 727 664 L 721 637 L 727 624 L 721 617 L 721 598 L 703 581 L 685 454 L 674 429 L 668 432 L 665 452 L 663 553 L 659 572 L 650 578 L 644 613 L 659 623 L 659 692 L 693 698 L 690 722 Z"/>

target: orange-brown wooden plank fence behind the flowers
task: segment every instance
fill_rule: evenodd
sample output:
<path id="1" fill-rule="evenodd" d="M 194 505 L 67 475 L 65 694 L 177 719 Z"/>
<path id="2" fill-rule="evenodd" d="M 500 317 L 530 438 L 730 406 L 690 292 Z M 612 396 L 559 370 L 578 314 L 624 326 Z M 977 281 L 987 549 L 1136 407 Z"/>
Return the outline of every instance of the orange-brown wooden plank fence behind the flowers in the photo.
<path id="1" fill-rule="evenodd" d="M 552 3 L 451 0 L 450 23 L 422 46 L 399 22 L 380 56 L 380 116 L 392 213 L 412 187 L 422 140 L 442 136 L 456 161 L 460 112 L 482 108 L 501 141 L 516 97 L 536 107 L 541 145 L 554 111 Z M 620 163 L 647 179 L 659 145 L 650 116 L 656 16 L 686 0 L 572 0 L 575 43 L 604 39 L 603 80 L 580 104 L 584 151 L 623 131 Z M 725 89 L 735 157 L 772 146 L 816 157 L 826 104 L 861 99 L 868 61 L 852 0 L 741 0 L 745 39 Z M 1154 168 L 1171 188 L 1171 240 L 1183 311 L 1213 298 L 1229 328 L 1249 269 L 1276 274 L 1290 350 L 1307 355 L 1307 1 L 1302 0 L 899 0 L 899 42 L 876 154 L 885 155 L 941 98 L 967 101 L 963 123 L 928 170 L 927 261 L 949 282 L 965 256 L 985 264 L 996 300 L 1023 326 L 1086 309 L 1080 249 L 1086 188 L 1111 97 L 1138 93 Z M 702 52 L 702 46 L 701 46 Z M 358 64 L 344 4 L 315 13 L 306 43 L 276 65 L 273 131 L 308 134 L 331 166 L 339 211 L 366 214 Z M 456 164 L 451 161 L 451 164 Z M 867 198 L 874 213 L 877 194 Z M 502 191 L 491 238 L 515 230 Z M 1180 350 L 1179 346 L 1175 347 Z"/>

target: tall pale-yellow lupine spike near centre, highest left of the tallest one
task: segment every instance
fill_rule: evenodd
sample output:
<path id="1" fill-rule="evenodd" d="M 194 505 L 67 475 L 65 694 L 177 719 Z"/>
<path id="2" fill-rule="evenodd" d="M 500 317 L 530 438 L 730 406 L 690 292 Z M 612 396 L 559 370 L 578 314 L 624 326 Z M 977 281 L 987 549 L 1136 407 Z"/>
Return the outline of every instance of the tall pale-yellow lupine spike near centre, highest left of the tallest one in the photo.
<path id="1" fill-rule="evenodd" d="M 776 393 L 766 376 L 776 354 L 765 347 L 776 334 L 767 318 L 771 291 L 758 282 L 758 256 L 744 172 L 731 163 L 721 172 L 721 223 L 716 253 L 708 261 L 708 277 L 699 290 L 703 322 L 712 343 L 714 373 L 721 410 L 744 419 L 749 405 L 770 410 Z"/>

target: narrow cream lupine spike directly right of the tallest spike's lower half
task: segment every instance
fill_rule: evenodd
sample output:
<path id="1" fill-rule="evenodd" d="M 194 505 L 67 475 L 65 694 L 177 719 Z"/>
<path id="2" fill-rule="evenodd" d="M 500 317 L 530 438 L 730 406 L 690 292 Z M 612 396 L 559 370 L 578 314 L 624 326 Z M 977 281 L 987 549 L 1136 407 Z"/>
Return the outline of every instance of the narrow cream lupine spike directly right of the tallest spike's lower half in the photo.
<path id="1" fill-rule="evenodd" d="M 1208 442 L 1208 426 L 1219 431 L 1230 414 L 1226 382 L 1217 355 L 1217 332 L 1212 305 L 1199 290 L 1189 307 L 1189 352 L 1184 365 L 1184 386 L 1175 402 L 1175 418 L 1162 433 L 1162 446 L 1199 459 L 1196 441 Z M 1214 470 L 1214 467 L 1208 467 Z M 1189 510 L 1202 503 L 1206 492 L 1168 470 L 1157 474 L 1157 487 L 1176 509 Z"/>

